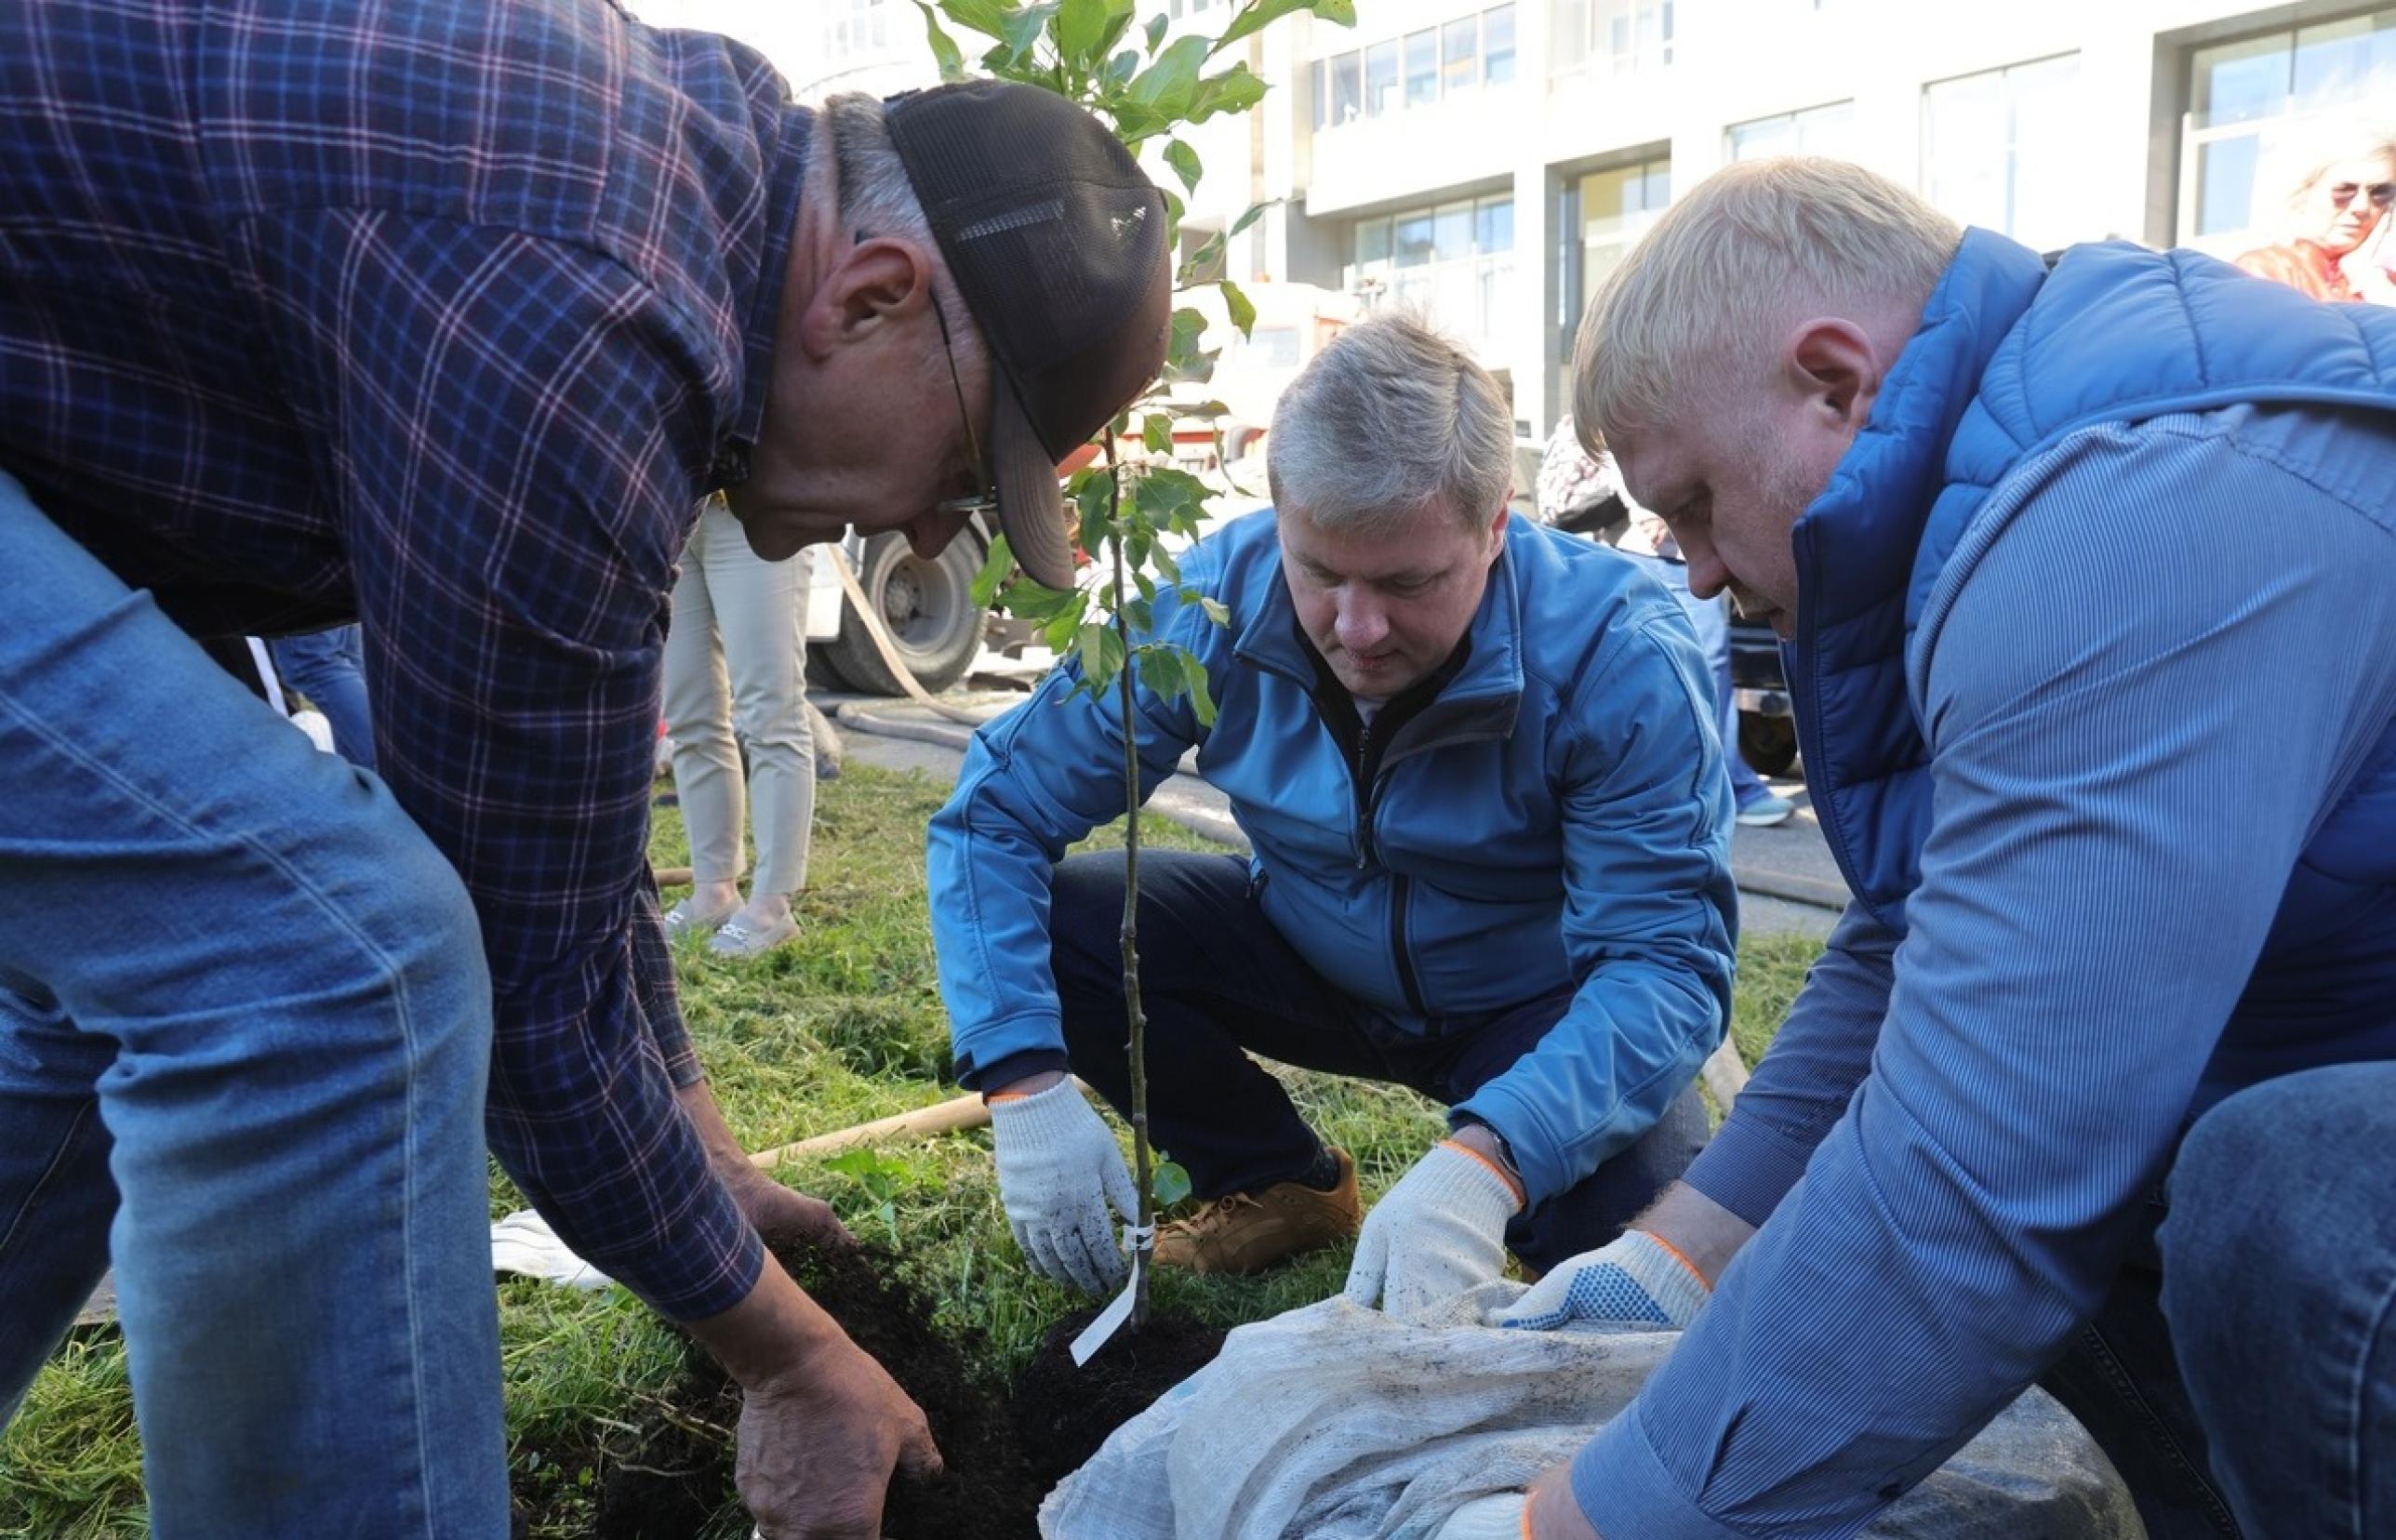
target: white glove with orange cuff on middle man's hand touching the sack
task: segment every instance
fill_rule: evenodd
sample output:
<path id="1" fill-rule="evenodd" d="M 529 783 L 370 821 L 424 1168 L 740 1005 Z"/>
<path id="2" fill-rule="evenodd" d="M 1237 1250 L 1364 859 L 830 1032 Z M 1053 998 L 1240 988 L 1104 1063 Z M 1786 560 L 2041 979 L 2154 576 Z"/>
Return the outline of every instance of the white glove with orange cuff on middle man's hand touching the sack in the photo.
<path id="1" fill-rule="evenodd" d="M 1505 1221 L 1521 1209 L 1498 1166 L 1440 1140 L 1397 1178 L 1356 1236 L 1347 1296 L 1414 1315 L 1505 1272 Z"/>

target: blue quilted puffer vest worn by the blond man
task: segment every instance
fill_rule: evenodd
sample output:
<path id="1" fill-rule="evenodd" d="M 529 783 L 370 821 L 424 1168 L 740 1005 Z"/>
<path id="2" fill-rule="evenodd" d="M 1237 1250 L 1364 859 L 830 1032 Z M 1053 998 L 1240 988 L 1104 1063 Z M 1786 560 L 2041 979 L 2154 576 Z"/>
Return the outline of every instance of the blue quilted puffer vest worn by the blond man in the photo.
<path id="1" fill-rule="evenodd" d="M 2396 311 L 2317 304 L 2190 251 L 2092 244 L 2049 268 L 2010 240 L 1965 235 L 1792 536 L 1799 613 L 1783 651 L 1807 788 L 1876 917 L 1905 927 L 1931 826 L 1910 642 L 1989 493 L 2075 429 L 2235 402 L 2396 414 Z M 2291 874 L 2207 1099 L 2307 1063 L 2391 1056 L 2396 733 Z"/>

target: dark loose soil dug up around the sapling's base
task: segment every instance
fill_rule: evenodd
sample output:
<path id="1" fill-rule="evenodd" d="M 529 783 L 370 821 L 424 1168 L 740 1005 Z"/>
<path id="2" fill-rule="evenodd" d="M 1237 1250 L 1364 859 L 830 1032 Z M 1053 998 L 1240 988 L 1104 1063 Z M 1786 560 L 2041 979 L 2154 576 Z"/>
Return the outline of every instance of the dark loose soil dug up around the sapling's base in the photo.
<path id="1" fill-rule="evenodd" d="M 946 1473 L 891 1483 L 887 1540 L 1030 1540 L 1040 1499 L 1097 1451 L 1117 1425 L 1208 1363 L 1222 1332 L 1150 1317 L 1129 1327 L 1076 1370 L 1066 1344 L 1095 1310 L 1059 1322 L 1025 1365 L 1014 1394 L 973 1375 L 980 1356 L 968 1329 L 934 1332 L 932 1305 L 882 1248 L 779 1253 L 791 1277 L 915 1396 Z M 633 1432 L 609 1432 L 592 1451 L 546 1451 L 599 1473 L 594 1540 L 690 1540 L 733 1502 L 733 1439 L 740 1389 L 700 1351 L 661 1406 L 637 1411 Z"/>

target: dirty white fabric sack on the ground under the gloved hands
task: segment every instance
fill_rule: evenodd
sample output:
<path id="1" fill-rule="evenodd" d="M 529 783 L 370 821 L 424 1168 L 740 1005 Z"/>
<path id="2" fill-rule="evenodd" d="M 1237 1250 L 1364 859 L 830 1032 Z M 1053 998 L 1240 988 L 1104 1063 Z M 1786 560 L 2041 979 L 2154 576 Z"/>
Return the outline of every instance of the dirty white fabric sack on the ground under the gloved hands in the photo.
<path id="1" fill-rule="evenodd" d="M 1040 1504 L 1045 1540 L 1440 1540 L 1572 1454 L 1677 1332 L 1481 1324 L 1521 1284 L 1392 1320 L 1344 1298 L 1232 1332 L 1222 1356 Z M 1462 1516 L 1459 1516 L 1462 1511 Z M 1502 1511 L 1502 1509 L 1500 1509 Z M 2094 1439 L 2029 1392 L 1866 1530 L 2142 1540 Z"/>

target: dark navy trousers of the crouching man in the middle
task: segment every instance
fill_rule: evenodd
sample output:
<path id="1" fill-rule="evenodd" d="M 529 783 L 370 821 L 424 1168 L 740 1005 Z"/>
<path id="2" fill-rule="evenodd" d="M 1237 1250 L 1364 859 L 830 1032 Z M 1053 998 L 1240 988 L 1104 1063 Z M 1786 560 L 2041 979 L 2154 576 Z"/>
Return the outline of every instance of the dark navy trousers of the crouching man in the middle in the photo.
<path id="1" fill-rule="evenodd" d="M 1124 857 L 1076 855 L 1057 867 L 1049 956 L 1073 1073 L 1117 1111 L 1131 1104 L 1124 1054 Z M 1320 1140 L 1289 1092 L 1244 1049 L 1332 1075 L 1414 1087 L 1454 1104 L 1548 1035 L 1572 992 L 1509 1011 L 1452 1015 L 1430 1035 L 1325 982 L 1282 939 L 1236 855 L 1140 853 L 1140 1001 L 1148 1011 L 1148 1126 L 1200 1198 L 1253 1193 L 1303 1176 Z M 1524 1267 L 1545 1272 L 1605 1245 L 1677 1178 L 1706 1142 L 1689 1087 L 1629 1150 L 1507 1226 Z"/>

